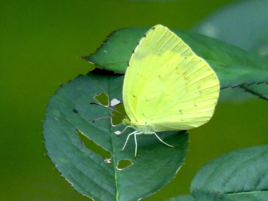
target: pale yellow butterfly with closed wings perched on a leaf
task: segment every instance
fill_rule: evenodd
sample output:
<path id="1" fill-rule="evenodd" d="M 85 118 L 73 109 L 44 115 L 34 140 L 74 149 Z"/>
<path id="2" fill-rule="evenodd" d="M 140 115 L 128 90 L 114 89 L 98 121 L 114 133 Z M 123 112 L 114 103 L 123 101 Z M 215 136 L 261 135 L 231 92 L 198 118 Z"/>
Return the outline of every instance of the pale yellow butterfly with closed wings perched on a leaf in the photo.
<path id="1" fill-rule="evenodd" d="M 123 124 L 135 131 L 122 151 L 131 135 L 136 157 L 136 135 L 154 134 L 165 143 L 156 132 L 187 130 L 208 122 L 219 89 L 216 73 L 203 58 L 167 27 L 154 26 L 136 45 L 126 69 L 123 103 L 128 117 Z"/>

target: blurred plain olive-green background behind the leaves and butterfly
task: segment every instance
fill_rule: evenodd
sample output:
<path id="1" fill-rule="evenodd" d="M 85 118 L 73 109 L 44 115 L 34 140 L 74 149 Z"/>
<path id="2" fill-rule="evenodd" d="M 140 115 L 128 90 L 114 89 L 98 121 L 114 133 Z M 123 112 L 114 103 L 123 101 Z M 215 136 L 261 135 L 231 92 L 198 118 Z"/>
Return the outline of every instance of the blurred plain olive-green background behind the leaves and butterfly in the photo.
<path id="1" fill-rule="evenodd" d="M 190 29 L 229 2 L 238 1 L 1 1 L 0 200 L 90 200 L 44 155 L 41 120 L 49 96 L 59 83 L 94 68 L 79 57 L 93 53 L 113 30 L 159 23 Z M 218 104 L 209 123 L 189 131 L 190 151 L 176 178 L 146 200 L 188 194 L 208 160 L 267 144 L 267 111 L 261 99 Z"/>

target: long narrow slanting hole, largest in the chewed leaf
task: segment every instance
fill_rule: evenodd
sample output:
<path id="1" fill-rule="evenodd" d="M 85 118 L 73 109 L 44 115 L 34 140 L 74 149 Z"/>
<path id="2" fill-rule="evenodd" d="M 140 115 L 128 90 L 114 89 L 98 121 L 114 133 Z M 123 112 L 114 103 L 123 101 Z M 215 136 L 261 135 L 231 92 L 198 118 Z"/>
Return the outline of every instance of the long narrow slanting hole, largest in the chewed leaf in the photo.
<path id="1" fill-rule="evenodd" d="M 99 146 L 97 143 L 93 142 L 88 136 L 86 136 L 82 131 L 75 129 L 76 134 L 80 138 L 82 144 L 89 150 L 93 151 L 94 153 L 101 155 L 105 158 L 105 162 L 109 163 L 111 158 L 111 153 L 106 149 Z M 111 163 L 111 162 L 110 162 Z"/>

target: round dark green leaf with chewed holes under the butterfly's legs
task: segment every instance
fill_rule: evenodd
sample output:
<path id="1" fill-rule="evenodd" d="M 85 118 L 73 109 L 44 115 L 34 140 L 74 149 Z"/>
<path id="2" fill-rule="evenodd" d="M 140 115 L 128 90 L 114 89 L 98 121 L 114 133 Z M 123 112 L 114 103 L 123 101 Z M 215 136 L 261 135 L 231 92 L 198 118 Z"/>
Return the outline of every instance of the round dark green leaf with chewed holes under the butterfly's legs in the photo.
<path id="1" fill-rule="evenodd" d="M 154 135 L 140 135 L 136 159 L 133 138 L 121 152 L 131 129 L 115 135 L 114 131 L 122 131 L 124 126 L 111 126 L 110 118 L 96 120 L 109 117 L 112 110 L 90 104 L 98 103 L 94 97 L 101 93 L 122 102 L 124 76 L 105 73 L 96 69 L 79 75 L 50 98 L 43 122 L 47 155 L 78 192 L 95 201 L 143 199 L 173 179 L 187 153 L 188 135 L 185 131 L 160 132 L 159 137 L 174 148 Z M 104 151 L 91 149 L 86 140 Z"/>

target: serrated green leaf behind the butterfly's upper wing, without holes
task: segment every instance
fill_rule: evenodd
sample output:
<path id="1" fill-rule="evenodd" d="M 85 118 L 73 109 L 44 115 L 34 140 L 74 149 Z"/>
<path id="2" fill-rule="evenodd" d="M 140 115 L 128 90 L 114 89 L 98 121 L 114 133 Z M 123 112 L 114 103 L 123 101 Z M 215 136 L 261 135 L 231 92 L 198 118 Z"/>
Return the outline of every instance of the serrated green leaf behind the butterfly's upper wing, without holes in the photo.
<path id="1" fill-rule="evenodd" d="M 132 27 L 117 30 L 96 53 L 83 58 L 100 68 L 124 73 L 135 45 L 148 29 Z M 266 59 L 202 34 L 173 31 L 216 71 L 221 88 L 268 82 Z"/>

